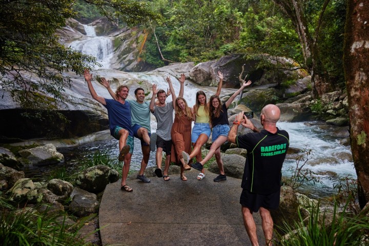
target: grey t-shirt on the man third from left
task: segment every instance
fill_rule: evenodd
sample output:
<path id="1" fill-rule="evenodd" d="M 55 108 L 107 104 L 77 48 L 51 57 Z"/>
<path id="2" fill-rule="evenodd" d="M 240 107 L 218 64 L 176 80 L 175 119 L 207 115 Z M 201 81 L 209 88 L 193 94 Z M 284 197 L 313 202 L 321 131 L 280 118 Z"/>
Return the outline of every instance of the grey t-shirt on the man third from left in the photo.
<path id="1" fill-rule="evenodd" d="M 152 113 L 158 123 L 156 134 L 163 140 L 171 140 L 170 132 L 173 125 L 173 103 L 167 103 L 164 107 L 154 107 L 154 113 Z"/>

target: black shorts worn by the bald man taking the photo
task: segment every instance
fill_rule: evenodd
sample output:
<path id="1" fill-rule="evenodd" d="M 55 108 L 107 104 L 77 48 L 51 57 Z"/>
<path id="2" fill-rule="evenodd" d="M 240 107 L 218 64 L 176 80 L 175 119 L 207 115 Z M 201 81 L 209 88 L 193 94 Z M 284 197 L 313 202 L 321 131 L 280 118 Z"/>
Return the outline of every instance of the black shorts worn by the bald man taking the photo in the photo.
<path id="1" fill-rule="evenodd" d="M 279 206 L 280 189 L 268 195 L 252 193 L 246 189 L 242 190 L 240 203 L 253 212 L 258 212 L 260 207 L 264 209 L 277 209 Z"/>

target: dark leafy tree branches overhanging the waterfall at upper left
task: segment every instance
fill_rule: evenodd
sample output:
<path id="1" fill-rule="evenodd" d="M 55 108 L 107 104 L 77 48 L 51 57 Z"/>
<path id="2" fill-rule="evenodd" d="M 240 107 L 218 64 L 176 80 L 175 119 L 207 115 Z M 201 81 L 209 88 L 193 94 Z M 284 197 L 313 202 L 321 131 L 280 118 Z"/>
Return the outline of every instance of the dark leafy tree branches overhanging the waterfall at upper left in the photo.
<path id="1" fill-rule="evenodd" d="M 86 0 L 109 19 L 129 24 L 154 19 L 144 2 Z M 0 89 L 24 108 L 50 109 L 70 86 L 65 72 L 83 73 L 94 57 L 58 43 L 55 31 L 75 16 L 75 0 L 0 0 Z M 47 97 L 51 95 L 52 97 Z M 4 96 L 4 92 L 3 92 Z"/>

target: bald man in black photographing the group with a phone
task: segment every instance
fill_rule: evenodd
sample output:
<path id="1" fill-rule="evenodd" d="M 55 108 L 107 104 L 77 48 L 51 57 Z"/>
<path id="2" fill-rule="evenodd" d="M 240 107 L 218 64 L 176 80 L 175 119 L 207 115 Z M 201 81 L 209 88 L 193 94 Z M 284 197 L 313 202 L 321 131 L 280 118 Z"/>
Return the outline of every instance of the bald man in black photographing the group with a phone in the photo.
<path id="1" fill-rule="evenodd" d="M 263 130 L 254 127 L 251 120 L 243 115 L 236 116 L 228 134 L 228 141 L 238 148 L 247 150 L 247 158 L 242 177 L 240 197 L 243 223 L 252 245 L 259 245 L 253 212 L 260 213 L 265 244 L 272 245 L 273 219 L 271 209 L 279 206 L 282 165 L 289 148 L 289 134 L 276 127 L 280 110 L 269 104 L 261 110 L 260 122 Z M 237 135 L 239 126 L 253 132 Z"/>

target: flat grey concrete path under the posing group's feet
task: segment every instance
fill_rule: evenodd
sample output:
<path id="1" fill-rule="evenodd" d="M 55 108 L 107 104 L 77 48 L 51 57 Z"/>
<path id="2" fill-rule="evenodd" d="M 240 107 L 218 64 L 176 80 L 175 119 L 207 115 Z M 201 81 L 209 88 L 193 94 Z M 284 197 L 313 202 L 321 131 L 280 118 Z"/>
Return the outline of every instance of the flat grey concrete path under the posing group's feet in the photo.
<path id="1" fill-rule="evenodd" d="M 133 192 L 120 190 L 120 180 L 105 189 L 99 210 L 103 245 L 251 245 L 244 229 L 239 196 L 241 180 L 198 171 L 170 175 L 170 181 L 150 177 L 150 183 L 128 180 Z M 259 243 L 264 236 L 254 213 Z"/>

